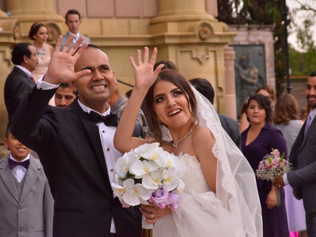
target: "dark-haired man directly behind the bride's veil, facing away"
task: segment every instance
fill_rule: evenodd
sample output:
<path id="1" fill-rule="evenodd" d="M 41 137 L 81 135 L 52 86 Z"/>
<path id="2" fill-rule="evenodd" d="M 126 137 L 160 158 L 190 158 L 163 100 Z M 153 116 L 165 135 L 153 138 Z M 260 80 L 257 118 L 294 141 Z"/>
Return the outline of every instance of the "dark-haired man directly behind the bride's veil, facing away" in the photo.
<path id="1" fill-rule="evenodd" d="M 194 78 L 190 79 L 189 82 L 197 89 L 199 93 L 201 93 L 206 99 L 208 99 L 209 102 L 211 102 L 212 104 L 214 103 L 214 88 L 208 80 L 202 78 Z M 239 150 L 241 150 L 241 139 L 237 121 L 235 121 L 233 118 L 229 118 L 221 114 L 218 114 L 218 117 L 224 130 L 237 145 Z"/>

